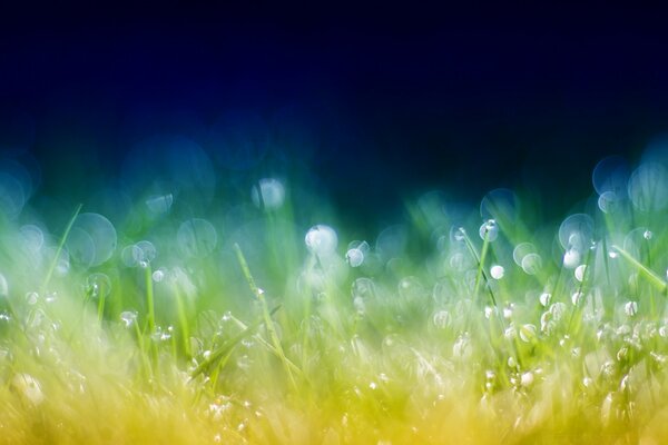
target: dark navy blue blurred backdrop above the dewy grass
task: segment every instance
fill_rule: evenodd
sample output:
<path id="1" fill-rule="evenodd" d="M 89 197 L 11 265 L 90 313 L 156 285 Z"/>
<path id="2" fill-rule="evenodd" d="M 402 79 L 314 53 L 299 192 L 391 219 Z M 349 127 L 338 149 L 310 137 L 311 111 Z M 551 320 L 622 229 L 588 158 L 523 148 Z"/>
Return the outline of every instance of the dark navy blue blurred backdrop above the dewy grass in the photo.
<path id="1" fill-rule="evenodd" d="M 601 157 L 637 160 L 668 130 L 660 11 L 249 4 L 3 9 L 1 149 L 42 166 L 42 192 L 76 195 L 143 135 L 288 116 L 286 156 L 360 220 L 495 187 L 538 190 L 554 217 Z"/>

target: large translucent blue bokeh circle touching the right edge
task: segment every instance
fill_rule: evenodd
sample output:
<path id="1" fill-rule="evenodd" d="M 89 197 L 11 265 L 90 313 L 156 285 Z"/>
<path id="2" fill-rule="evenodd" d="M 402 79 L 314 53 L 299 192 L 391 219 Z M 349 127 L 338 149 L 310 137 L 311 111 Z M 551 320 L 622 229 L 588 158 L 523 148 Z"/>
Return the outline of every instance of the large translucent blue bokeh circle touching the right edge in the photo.
<path id="1" fill-rule="evenodd" d="M 628 194 L 640 211 L 665 209 L 668 205 L 668 171 L 656 162 L 642 164 L 631 174 Z"/>

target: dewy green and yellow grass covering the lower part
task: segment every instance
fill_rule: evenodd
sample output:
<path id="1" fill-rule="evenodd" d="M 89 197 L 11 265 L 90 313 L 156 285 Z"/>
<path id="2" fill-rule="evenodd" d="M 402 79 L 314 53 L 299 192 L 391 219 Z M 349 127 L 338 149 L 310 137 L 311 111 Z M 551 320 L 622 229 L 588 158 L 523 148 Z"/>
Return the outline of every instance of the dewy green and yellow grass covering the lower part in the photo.
<path id="1" fill-rule="evenodd" d="M 367 245 L 265 191 L 138 199 L 112 240 L 3 218 L 0 443 L 664 443 L 667 212 L 631 191 L 561 230 L 431 196 Z"/>

